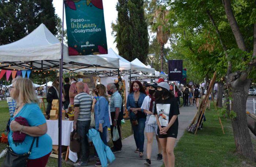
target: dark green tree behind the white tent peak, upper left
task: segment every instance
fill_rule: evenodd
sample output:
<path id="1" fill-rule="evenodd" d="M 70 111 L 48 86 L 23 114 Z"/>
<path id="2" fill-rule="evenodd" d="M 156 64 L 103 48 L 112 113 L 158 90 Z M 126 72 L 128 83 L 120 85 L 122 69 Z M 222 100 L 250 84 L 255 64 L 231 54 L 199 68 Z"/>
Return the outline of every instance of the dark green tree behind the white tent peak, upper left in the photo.
<path id="1" fill-rule="evenodd" d="M 41 23 L 56 35 L 52 0 L 0 0 L 0 44 L 21 39 Z"/>

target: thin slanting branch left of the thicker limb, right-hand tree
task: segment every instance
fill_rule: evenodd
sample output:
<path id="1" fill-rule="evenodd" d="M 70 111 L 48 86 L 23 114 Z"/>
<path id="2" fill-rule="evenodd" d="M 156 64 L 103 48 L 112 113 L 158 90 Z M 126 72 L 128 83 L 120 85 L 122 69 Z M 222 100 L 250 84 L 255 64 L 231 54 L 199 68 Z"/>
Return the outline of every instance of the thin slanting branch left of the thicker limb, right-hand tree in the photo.
<path id="1" fill-rule="evenodd" d="M 223 43 L 221 33 L 219 32 L 219 29 L 218 29 L 218 27 L 217 27 L 217 25 L 216 25 L 216 23 L 215 23 L 215 21 L 214 21 L 212 15 L 211 15 L 211 12 L 210 12 L 209 10 L 207 10 L 206 13 L 207 13 L 209 19 L 211 20 L 211 23 L 212 23 L 213 27 L 215 28 L 215 31 L 216 31 L 216 33 L 217 33 L 217 35 L 218 35 L 218 37 L 219 37 L 219 41 L 220 41 L 220 43 L 221 43 L 222 49 L 223 49 L 223 51 L 224 51 L 224 53 L 225 53 L 226 59 L 228 60 L 228 56 L 229 56 L 229 55 L 227 54 L 227 47 L 226 47 L 226 45 L 224 45 L 224 43 Z M 232 71 L 232 64 L 231 64 L 231 61 L 228 60 L 228 61 L 227 61 L 227 64 L 228 64 L 228 67 L 227 67 L 227 75 L 229 75 L 229 74 L 231 73 L 231 71 Z"/>

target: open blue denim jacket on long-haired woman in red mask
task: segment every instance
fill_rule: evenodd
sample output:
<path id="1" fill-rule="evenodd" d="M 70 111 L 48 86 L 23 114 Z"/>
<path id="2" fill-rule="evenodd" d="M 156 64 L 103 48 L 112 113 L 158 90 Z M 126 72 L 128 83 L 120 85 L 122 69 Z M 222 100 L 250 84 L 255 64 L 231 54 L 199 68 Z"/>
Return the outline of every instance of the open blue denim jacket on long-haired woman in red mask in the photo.
<path id="1" fill-rule="evenodd" d="M 142 106 L 142 103 L 143 103 L 143 100 L 144 98 L 146 97 L 147 95 L 146 94 L 143 94 L 142 92 L 140 92 L 140 96 L 139 96 L 139 99 L 138 99 L 138 106 L 141 107 Z M 136 104 L 135 104 L 135 99 L 134 99 L 134 92 L 132 92 L 131 94 L 128 95 L 128 98 L 127 98 L 127 103 L 126 103 L 126 108 L 127 110 L 130 112 L 130 115 L 131 115 L 131 111 L 130 111 L 130 108 L 136 108 Z M 140 111 L 138 111 L 138 116 L 141 117 L 143 116 L 144 117 L 144 112 L 143 110 L 141 111 L 141 113 L 139 113 Z M 146 117 L 146 115 L 145 115 Z"/>

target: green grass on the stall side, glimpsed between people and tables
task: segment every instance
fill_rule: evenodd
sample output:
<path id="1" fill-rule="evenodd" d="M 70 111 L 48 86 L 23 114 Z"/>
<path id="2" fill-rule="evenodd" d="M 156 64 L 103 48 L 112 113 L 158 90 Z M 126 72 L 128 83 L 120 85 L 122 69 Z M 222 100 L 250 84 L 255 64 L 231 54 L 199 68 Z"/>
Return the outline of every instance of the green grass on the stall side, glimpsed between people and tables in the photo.
<path id="1" fill-rule="evenodd" d="M 45 103 L 45 107 L 47 106 L 47 102 Z M 42 109 L 42 108 L 41 108 Z M 6 128 L 6 124 L 10 118 L 9 108 L 7 102 L 5 100 L 0 101 L 0 131 L 4 131 Z M 56 129 L 57 131 L 57 129 Z M 109 131 L 110 132 L 110 131 Z M 122 125 L 122 138 L 125 139 L 132 134 L 131 132 L 131 123 L 129 120 L 125 120 L 125 124 Z M 111 136 L 111 135 L 110 135 Z M 109 141 L 109 146 L 112 146 L 113 143 L 111 139 Z M 0 143 L 0 152 L 4 150 L 6 144 Z M 3 163 L 4 158 L 0 159 L 0 164 Z M 58 159 L 50 157 L 47 163 L 47 167 L 57 167 L 58 166 Z M 63 167 L 71 167 L 70 164 L 63 162 Z"/>

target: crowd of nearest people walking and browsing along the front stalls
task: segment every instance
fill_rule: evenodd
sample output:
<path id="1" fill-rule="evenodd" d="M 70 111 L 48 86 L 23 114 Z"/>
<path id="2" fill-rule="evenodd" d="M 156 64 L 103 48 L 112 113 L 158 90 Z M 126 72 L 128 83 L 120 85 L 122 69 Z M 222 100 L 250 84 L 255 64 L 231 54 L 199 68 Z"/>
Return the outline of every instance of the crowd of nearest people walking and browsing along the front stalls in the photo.
<path id="1" fill-rule="evenodd" d="M 107 134 L 108 128 L 110 128 L 113 142 L 112 152 L 122 151 L 121 120 L 124 111 L 123 98 L 118 91 L 119 86 L 116 83 L 108 83 L 107 86 L 97 84 L 92 91 L 93 97 L 91 97 L 89 87 L 83 83 L 84 77 L 79 73 L 71 82 L 69 78 L 65 78 L 62 95 L 59 92 L 60 84 L 57 77 L 46 94 L 48 102 L 46 119 L 49 119 L 53 99 L 59 99 L 60 96 L 64 109 L 70 106 L 74 107 L 73 128 L 80 135 L 81 143 L 79 159 L 74 163 L 74 166 L 77 167 L 86 166 L 90 158 L 87 134 L 92 128 L 90 124 L 92 113 L 94 113 L 95 120 L 93 128 L 99 131 L 102 142 L 108 145 Z M 29 152 L 30 145 L 33 143 L 27 166 L 35 166 L 35 164 L 37 164 L 36 166 L 45 166 L 52 150 L 52 139 L 46 134 L 46 120 L 38 107 L 37 95 L 34 92 L 31 80 L 25 78 L 13 80 L 11 97 L 16 100 L 17 108 L 9 121 L 8 131 L 9 134 L 18 132 L 18 134 L 24 135 L 18 144 L 15 142 L 14 135 L 8 135 L 8 141 L 12 150 L 19 154 Z M 163 159 L 165 166 L 174 166 L 173 149 L 178 134 L 177 115 L 179 114 L 177 96 L 180 95 L 179 91 L 176 92 L 171 91 L 170 85 L 166 82 L 151 83 L 145 87 L 140 81 L 131 83 L 126 107 L 129 111 L 136 144 L 134 152 L 141 158 L 144 156 L 145 131 L 147 153 L 144 164 L 147 166 L 151 166 L 154 135 L 156 135 L 158 143 L 157 160 Z M 19 123 L 19 117 L 24 118 L 27 124 Z M 113 140 L 115 130 L 118 131 L 119 138 Z M 34 144 L 34 140 L 37 140 L 37 144 Z M 94 158 L 98 158 L 97 152 L 95 152 Z M 99 159 L 96 160 L 95 166 L 101 166 Z"/>

